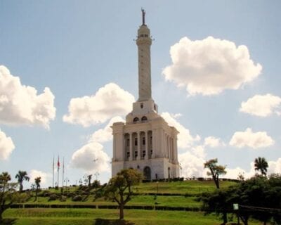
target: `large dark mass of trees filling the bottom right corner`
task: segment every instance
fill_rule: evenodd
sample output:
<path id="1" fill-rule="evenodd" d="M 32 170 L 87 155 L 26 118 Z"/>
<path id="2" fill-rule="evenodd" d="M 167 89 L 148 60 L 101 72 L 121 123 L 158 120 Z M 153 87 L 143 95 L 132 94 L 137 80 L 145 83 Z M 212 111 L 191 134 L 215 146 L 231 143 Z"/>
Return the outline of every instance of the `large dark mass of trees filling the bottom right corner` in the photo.
<path id="1" fill-rule="evenodd" d="M 203 193 L 200 200 L 203 210 L 216 214 L 233 212 L 233 204 L 239 204 L 239 217 L 244 225 L 250 217 L 263 221 L 263 224 L 268 221 L 281 224 L 281 175 L 271 174 L 268 179 L 254 176 L 235 186 Z"/>

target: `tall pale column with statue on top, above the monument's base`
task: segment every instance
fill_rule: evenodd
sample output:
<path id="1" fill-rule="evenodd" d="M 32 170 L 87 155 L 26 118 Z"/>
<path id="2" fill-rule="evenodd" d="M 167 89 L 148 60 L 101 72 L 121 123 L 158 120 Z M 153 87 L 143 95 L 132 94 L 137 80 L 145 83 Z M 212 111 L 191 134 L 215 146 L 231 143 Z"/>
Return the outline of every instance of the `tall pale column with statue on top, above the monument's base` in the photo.
<path id="1" fill-rule="evenodd" d="M 150 30 L 145 25 L 145 11 L 143 13 L 143 25 L 138 29 L 138 101 L 148 101 L 151 99 L 151 65 L 150 46 L 152 39 Z"/>

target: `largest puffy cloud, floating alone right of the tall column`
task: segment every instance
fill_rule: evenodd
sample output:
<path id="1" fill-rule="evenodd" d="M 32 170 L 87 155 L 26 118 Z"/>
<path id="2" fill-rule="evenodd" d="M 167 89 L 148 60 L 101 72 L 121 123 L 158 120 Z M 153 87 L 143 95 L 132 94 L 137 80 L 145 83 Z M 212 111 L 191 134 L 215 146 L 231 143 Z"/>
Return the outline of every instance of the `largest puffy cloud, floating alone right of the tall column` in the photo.
<path id="1" fill-rule="evenodd" d="M 247 46 L 207 37 L 191 41 L 183 37 L 170 49 L 172 65 L 162 71 L 165 79 L 184 86 L 188 94 L 214 95 L 239 89 L 261 73 Z"/>

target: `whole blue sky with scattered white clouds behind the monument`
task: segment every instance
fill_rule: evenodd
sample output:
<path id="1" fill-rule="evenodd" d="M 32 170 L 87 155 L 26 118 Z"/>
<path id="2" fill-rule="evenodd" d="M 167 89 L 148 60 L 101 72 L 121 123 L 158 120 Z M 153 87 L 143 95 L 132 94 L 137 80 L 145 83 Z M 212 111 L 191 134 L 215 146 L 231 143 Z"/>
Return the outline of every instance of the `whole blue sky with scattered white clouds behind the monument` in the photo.
<path id="1" fill-rule="evenodd" d="M 280 1 L 0 1 L 0 172 L 30 188 L 111 177 L 113 122 L 138 99 L 141 8 L 152 98 L 176 127 L 181 176 L 281 173 Z"/>

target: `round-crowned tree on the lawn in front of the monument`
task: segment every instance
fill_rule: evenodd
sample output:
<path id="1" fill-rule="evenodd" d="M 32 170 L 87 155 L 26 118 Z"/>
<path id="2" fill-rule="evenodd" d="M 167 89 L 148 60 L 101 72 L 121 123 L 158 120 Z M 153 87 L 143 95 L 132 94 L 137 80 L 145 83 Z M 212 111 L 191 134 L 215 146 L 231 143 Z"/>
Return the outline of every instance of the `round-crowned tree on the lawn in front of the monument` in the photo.
<path id="1" fill-rule="evenodd" d="M 119 205 L 119 219 L 124 219 L 124 205 L 131 200 L 132 186 L 137 185 L 143 175 L 136 169 L 122 169 L 112 177 L 105 188 L 105 196 Z"/>

